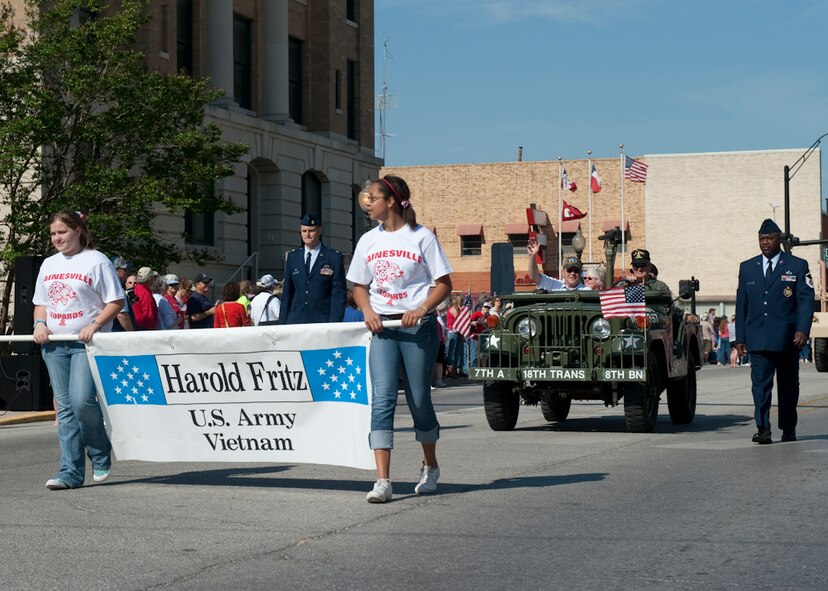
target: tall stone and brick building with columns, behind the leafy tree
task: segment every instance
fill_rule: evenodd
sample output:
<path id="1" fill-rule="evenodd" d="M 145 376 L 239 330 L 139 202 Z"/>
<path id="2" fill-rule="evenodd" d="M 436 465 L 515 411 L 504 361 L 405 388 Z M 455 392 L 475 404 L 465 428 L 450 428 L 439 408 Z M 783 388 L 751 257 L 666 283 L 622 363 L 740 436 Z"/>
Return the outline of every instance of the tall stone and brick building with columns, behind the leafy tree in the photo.
<path id="1" fill-rule="evenodd" d="M 24 3 L 12 4 L 19 19 Z M 159 212 L 157 230 L 166 240 L 220 258 L 206 268 L 185 260 L 174 271 L 206 271 L 219 285 L 264 273 L 281 278 L 286 253 L 301 244 L 299 218 L 307 211 L 322 216 L 326 244 L 352 253 L 370 228 L 356 194 L 381 165 L 373 1 L 152 0 L 148 10 L 137 39 L 148 66 L 209 78 L 224 96 L 206 120 L 223 139 L 250 146 L 235 174 L 216 187 L 244 212 Z"/>

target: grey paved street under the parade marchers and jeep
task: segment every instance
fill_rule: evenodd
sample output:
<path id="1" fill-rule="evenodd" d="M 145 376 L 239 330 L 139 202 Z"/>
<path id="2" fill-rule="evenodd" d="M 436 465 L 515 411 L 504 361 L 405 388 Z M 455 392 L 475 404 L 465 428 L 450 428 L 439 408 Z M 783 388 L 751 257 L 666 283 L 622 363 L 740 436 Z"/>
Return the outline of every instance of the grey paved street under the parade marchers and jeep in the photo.
<path id="1" fill-rule="evenodd" d="M 3 426 L 0 586 L 822 591 L 828 374 L 803 366 L 800 440 L 760 447 L 748 372 L 705 368 L 696 421 L 662 401 L 652 434 L 598 403 L 495 433 L 479 387 L 438 390 L 439 494 L 413 494 L 401 408 L 386 505 L 364 500 L 372 473 L 311 465 L 116 462 L 48 491 L 55 427 Z"/>

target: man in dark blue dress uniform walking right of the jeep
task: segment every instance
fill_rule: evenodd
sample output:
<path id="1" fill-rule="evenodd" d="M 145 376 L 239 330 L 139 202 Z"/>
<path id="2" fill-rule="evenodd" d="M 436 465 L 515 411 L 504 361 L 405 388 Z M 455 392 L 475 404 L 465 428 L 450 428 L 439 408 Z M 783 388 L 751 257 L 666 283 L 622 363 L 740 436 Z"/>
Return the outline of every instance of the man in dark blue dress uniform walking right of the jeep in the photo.
<path id="1" fill-rule="evenodd" d="M 772 443 L 771 394 L 776 373 L 782 441 L 796 441 L 799 401 L 799 349 L 808 342 L 814 315 L 814 282 L 808 262 L 782 252 L 782 231 L 773 220 L 759 228 L 762 254 L 739 267 L 736 342 L 750 353 L 750 378 L 759 444 Z"/>

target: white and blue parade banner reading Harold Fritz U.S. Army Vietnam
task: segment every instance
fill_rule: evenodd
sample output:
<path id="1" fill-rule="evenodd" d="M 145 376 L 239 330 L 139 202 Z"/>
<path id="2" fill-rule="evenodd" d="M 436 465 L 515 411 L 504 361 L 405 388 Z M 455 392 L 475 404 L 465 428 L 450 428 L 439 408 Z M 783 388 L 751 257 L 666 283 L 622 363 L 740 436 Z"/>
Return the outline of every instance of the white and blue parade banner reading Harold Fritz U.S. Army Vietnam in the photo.
<path id="1" fill-rule="evenodd" d="M 98 333 L 87 344 L 119 460 L 372 469 L 362 323 Z"/>

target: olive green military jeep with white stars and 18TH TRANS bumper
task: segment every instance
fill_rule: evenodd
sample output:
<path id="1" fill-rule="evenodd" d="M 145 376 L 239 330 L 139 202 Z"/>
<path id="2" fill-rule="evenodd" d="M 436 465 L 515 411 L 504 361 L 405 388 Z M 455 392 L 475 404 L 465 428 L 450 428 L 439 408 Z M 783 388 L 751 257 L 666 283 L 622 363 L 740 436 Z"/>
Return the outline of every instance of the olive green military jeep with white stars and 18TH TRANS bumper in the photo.
<path id="1" fill-rule="evenodd" d="M 698 318 L 669 293 L 644 293 L 645 314 L 629 318 L 604 318 L 597 291 L 501 296 L 513 308 L 480 335 L 479 366 L 469 374 L 483 382 L 489 426 L 514 429 L 521 402 L 540 405 L 557 422 L 573 400 L 623 401 L 627 428 L 646 433 L 664 390 L 673 423 L 692 422 L 702 361 Z"/>

